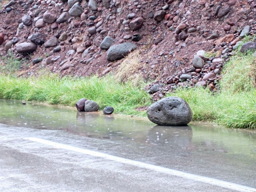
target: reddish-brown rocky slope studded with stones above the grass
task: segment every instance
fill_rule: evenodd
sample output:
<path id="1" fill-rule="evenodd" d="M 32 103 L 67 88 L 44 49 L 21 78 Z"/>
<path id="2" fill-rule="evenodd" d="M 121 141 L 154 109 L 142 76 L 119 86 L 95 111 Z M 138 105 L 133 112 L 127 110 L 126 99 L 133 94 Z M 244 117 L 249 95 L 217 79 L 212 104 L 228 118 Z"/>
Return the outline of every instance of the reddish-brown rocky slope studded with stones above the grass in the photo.
<path id="1" fill-rule="evenodd" d="M 88 76 L 118 71 L 137 49 L 137 73 L 157 80 L 147 87 L 157 100 L 177 86 L 216 89 L 236 43 L 255 33 L 255 15 L 253 0 L 11 0 L 0 11 L 0 51 L 27 58 L 21 75 Z"/>

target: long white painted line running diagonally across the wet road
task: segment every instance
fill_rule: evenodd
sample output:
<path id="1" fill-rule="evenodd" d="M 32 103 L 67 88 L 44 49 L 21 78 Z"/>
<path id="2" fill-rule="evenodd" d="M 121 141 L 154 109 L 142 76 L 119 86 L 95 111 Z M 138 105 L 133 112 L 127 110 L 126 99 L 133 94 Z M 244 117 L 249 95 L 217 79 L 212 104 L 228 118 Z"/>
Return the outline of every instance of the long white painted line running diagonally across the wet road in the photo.
<path id="1" fill-rule="evenodd" d="M 145 169 L 149 169 L 149 170 L 153 170 L 153 171 L 157 171 L 157 172 L 163 172 L 163 173 L 166 173 L 169 175 L 178 176 L 178 177 L 182 177 L 185 179 L 200 181 L 200 182 L 208 183 L 208 184 L 211 184 L 214 186 L 219 186 L 219 187 L 237 190 L 237 191 L 241 191 L 241 192 L 252 192 L 252 191 L 256 192 L 256 188 L 246 187 L 243 185 L 237 185 L 235 183 L 230 183 L 230 182 L 226 182 L 226 181 L 222 181 L 222 180 L 212 179 L 212 178 L 194 175 L 194 174 L 181 172 L 181 171 L 176 171 L 173 169 L 168 169 L 168 168 L 164 168 L 164 167 L 160 167 L 160 166 L 156 166 L 156 165 L 152 165 L 152 164 L 142 163 L 139 161 L 129 160 L 129 159 L 125 159 L 122 157 L 117 157 L 117 156 L 112 156 L 112 155 L 108 155 L 108 154 L 104 154 L 104 153 L 100 153 L 100 152 L 96 152 L 96 151 L 91 151 L 88 149 L 77 148 L 77 147 L 73 147 L 70 145 L 56 143 L 56 142 L 52 142 L 52 141 L 48 141 L 48 140 L 35 138 L 35 137 L 28 137 L 28 138 L 24 138 L 24 139 L 30 140 L 30 141 L 35 141 L 35 142 L 42 143 L 45 145 L 50 145 L 53 147 L 58 147 L 58 148 L 67 149 L 70 151 L 75 151 L 78 153 L 83 153 L 83 154 L 90 155 L 90 156 L 102 157 L 102 158 L 105 158 L 108 160 L 112 160 L 112 161 L 116 161 L 116 162 L 120 162 L 120 163 L 124 163 L 124 164 L 129 164 L 129 165 L 137 166 L 140 168 L 145 168 Z"/>

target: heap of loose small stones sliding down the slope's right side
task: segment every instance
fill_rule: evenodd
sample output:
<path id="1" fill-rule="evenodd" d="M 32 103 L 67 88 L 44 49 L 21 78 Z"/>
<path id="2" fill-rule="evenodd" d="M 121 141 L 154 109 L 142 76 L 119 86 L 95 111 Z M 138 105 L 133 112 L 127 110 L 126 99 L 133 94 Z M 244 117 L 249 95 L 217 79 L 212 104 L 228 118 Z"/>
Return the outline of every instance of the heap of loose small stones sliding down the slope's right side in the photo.
<path id="1" fill-rule="evenodd" d="M 207 53 L 204 50 L 199 50 L 192 60 L 191 67 L 182 68 L 181 71 L 174 73 L 172 76 L 163 77 L 161 80 L 148 85 L 145 89 L 148 93 L 153 94 L 153 100 L 163 98 L 166 92 L 171 92 L 177 87 L 208 86 L 212 92 L 217 91 L 223 65 L 229 61 L 232 52 L 236 51 L 242 43 L 241 38 L 250 34 L 250 32 L 250 26 L 246 26 L 237 38 L 233 34 L 228 34 L 217 39 L 214 43 L 219 46 L 208 53 L 208 55 L 212 54 L 212 57 L 205 57 L 204 55 L 207 55 Z M 256 50 L 256 42 L 244 43 L 238 51 L 244 53 L 248 50 Z M 220 55 L 213 56 L 216 54 Z"/>

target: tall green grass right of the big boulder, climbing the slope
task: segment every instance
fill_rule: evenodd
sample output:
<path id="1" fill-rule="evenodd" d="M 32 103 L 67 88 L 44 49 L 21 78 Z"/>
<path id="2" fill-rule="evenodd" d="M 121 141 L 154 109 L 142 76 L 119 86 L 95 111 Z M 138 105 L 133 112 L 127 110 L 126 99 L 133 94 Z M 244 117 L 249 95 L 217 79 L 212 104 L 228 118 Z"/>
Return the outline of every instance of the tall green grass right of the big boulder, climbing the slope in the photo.
<path id="1" fill-rule="evenodd" d="M 212 93 L 209 89 L 195 87 L 178 89 L 168 96 L 185 99 L 196 121 L 214 121 L 232 128 L 256 129 L 255 78 L 256 58 L 253 52 L 242 54 L 238 51 L 222 70 L 220 92 Z"/>

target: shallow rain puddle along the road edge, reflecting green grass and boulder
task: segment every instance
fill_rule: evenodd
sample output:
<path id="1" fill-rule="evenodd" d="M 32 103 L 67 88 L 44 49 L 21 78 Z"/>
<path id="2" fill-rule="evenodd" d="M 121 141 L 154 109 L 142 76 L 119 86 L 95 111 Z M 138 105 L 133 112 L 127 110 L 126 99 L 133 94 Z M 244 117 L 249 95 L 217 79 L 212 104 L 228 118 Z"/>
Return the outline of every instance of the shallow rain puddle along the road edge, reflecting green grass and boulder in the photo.
<path id="1" fill-rule="evenodd" d="M 0 123 L 67 131 L 84 137 L 157 145 L 168 150 L 218 150 L 246 154 L 256 158 L 256 132 L 234 130 L 212 124 L 190 123 L 189 126 L 157 126 L 147 118 L 103 115 L 102 112 L 77 112 L 75 108 L 48 106 L 21 101 L 0 100 Z M 245 150 L 237 147 L 247 146 Z"/>

